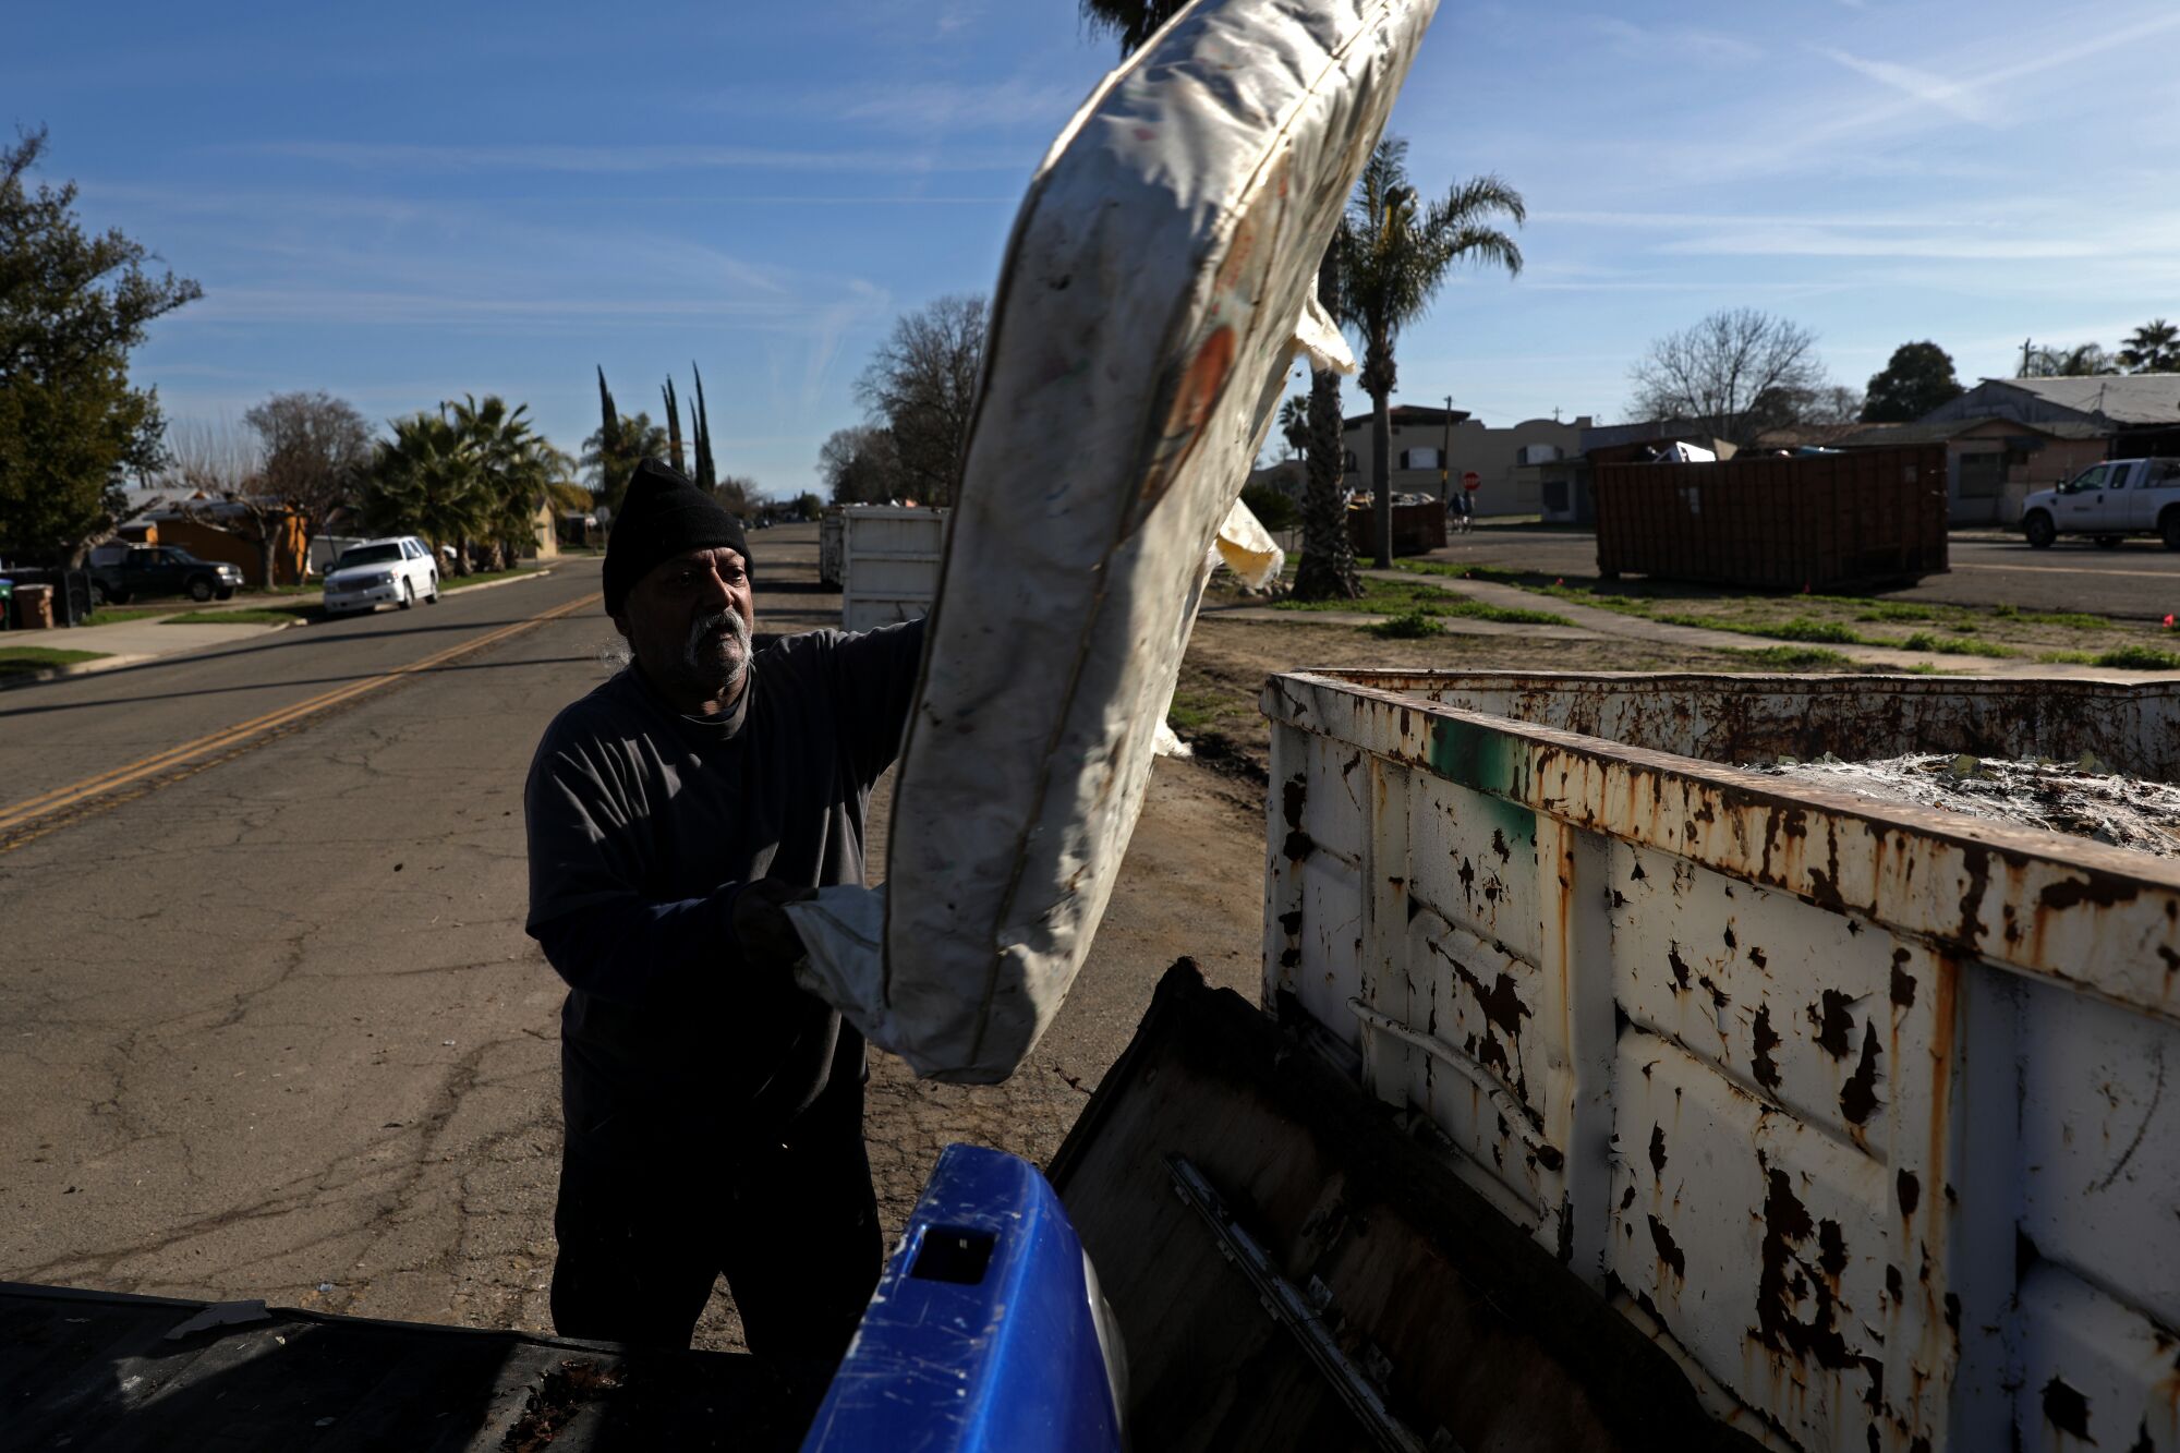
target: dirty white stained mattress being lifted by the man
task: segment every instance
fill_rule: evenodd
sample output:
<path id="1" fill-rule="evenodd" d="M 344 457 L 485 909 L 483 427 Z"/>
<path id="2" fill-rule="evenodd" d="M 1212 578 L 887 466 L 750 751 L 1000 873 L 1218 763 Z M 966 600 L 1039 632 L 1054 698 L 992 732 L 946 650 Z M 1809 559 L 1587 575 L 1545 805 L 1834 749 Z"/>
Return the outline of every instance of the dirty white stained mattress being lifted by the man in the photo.
<path id="1" fill-rule="evenodd" d="M 1437 0 L 1199 0 L 1077 111 L 1001 271 L 894 790 L 887 892 L 791 908 L 804 984 L 1007 1078 L 1081 969 L 1317 266 Z"/>

